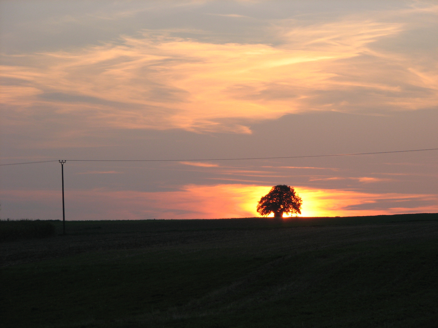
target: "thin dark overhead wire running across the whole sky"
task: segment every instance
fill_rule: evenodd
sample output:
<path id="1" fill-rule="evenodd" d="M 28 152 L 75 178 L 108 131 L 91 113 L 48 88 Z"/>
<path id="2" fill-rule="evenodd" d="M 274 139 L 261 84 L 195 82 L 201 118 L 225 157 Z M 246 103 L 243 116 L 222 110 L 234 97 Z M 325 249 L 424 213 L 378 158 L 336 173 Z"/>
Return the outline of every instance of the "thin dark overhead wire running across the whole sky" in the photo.
<path id="1" fill-rule="evenodd" d="M 413 149 L 413 150 L 396 150 L 396 151 L 379 151 L 379 152 L 374 152 L 374 153 L 331 154 L 331 155 L 310 155 L 310 156 L 283 156 L 283 157 L 208 158 L 208 159 L 188 159 L 188 160 L 183 159 L 183 160 L 66 160 L 66 161 L 72 161 L 72 162 L 73 161 L 74 162 L 189 162 L 189 161 L 269 160 L 269 159 L 282 159 L 282 158 L 308 158 L 308 157 L 329 157 L 329 156 L 352 156 L 352 155 L 406 153 L 406 152 L 412 152 L 412 151 L 425 151 L 425 150 L 438 150 L 438 148 Z M 47 163 L 47 162 L 56 162 L 56 161 L 41 161 L 41 162 L 0 164 L 0 166 L 2 166 L 2 165 Z"/>

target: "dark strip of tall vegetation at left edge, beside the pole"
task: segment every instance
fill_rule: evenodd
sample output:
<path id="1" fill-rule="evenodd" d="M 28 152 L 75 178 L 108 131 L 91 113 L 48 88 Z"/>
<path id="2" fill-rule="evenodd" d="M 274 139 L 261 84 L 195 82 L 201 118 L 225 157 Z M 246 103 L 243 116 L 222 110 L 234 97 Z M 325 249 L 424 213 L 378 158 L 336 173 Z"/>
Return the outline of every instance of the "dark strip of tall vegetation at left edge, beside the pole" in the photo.
<path id="1" fill-rule="evenodd" d="M 0 220 L 0 242 L 43 238 L 55 235 L 53 223 L 41 220 Z"/>

